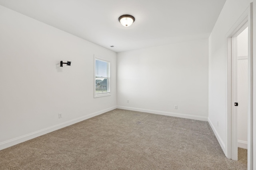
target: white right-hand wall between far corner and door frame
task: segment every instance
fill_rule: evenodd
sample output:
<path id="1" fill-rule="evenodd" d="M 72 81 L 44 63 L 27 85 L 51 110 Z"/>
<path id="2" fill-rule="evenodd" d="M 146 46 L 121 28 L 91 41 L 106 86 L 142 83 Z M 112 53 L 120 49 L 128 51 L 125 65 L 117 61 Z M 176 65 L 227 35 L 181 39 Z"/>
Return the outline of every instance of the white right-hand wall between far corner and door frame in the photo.
<path id="1" fill-rule="evenodd" d="M 249 7 L 250 2 L 251 0 L 226 0 L 209 37 L 209 123 L 224 152 L 226 152 L 225 36 Z"/>

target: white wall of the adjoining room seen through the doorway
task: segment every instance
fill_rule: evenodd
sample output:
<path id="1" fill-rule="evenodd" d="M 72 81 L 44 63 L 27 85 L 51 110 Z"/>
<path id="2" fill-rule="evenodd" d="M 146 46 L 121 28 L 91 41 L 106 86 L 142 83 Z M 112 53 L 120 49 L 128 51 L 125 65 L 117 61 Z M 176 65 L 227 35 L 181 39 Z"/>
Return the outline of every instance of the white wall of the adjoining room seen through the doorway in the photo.
<path id="1" fill-rule="evenodd" d="M 247 149 L 248 126 L 248 28 L 237 36 L 237 139 Z"/>

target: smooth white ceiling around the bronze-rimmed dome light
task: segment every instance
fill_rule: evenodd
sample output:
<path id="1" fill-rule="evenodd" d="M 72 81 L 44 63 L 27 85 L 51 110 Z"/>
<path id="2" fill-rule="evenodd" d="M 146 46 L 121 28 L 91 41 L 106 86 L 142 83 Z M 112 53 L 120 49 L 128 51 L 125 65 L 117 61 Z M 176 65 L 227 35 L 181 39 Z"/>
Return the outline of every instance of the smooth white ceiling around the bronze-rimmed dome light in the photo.
<path id="1" fill-rule="evenodd" d="M 0 0 L 0 5 L 122 52 L 208 38 L 225 1 Z M 123 14 L 135 17 L 130 27 L 118 22 Z"/>

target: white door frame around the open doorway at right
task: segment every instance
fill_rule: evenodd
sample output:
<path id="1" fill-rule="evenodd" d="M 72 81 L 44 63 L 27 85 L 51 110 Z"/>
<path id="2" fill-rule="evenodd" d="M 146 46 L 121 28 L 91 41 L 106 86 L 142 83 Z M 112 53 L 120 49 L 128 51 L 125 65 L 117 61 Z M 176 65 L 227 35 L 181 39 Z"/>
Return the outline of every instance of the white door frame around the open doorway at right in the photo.
<path id="1" fill-rule="evenodd" d="M 226 50 L 226 143 L 225 155 L 227 158 L 237 160 L 237 129 L 236 113 L 234 108 L 234 66 L 232 58 L 232 37 L 239 35 L 239 31 L 248 26 L 248 170 L 252 169 L 252 3 L 244 14 L 236 21 L 225 36 Z M 241 32 L 240 32 L 241 33 Z M 234 39 L 233 39 L 234 41 Z M 233 62 L 232 62 L 233 61 Z M 233 76 L 233 77 L 232 77 Z M 232 88 L 233 87 L 233 88 Z"/>

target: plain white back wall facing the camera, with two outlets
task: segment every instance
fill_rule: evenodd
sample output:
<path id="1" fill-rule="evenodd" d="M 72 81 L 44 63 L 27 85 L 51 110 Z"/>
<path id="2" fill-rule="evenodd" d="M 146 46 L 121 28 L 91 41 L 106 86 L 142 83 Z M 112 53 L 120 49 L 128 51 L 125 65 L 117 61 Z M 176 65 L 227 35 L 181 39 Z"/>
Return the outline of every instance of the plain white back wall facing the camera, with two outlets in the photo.
<path id="1" fill-rule="evenodd" d="M 118 108 L 207 120 L 208 39 L 118 53 L 117 72 Z"/>

